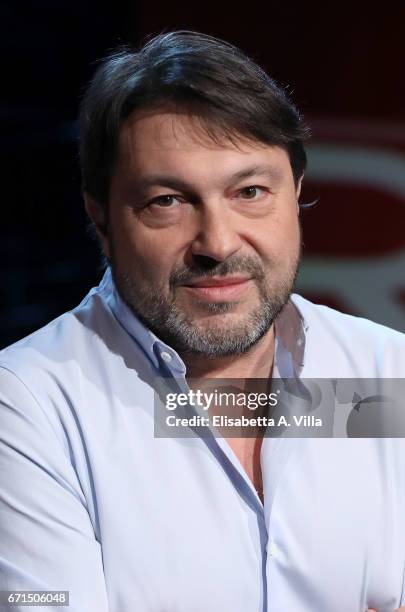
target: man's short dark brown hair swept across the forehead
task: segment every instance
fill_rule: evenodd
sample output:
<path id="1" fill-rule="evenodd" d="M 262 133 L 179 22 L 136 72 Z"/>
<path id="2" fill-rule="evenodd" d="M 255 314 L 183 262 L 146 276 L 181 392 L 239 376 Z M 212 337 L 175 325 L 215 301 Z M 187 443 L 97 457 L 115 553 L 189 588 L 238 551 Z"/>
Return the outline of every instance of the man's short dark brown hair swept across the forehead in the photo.
<path id="1" fill-rule="evenodd" d="M 240 136 L 288 152 L 297 183 L 309 130 L 287 94 L 237 47 L 198 32 L 120 48 L 101 61 L 82 99 L 83 190 L 106 206 L 122 123 L 135 110 L 171 106 L 196 115 L 210 137 Z"/>

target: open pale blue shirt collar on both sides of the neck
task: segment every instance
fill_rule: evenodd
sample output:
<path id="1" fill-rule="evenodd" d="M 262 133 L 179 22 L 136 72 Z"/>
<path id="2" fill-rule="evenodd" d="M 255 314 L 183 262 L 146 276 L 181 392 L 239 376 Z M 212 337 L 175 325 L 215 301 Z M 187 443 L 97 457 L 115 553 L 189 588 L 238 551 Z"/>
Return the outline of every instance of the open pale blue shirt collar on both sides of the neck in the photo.
<path id="1" fill-rule="evenodd" d="M 156 369 L 160 370 L 164 366 L 175 377 L 185 375 L 186 366 L 177 352 L 148 329 L 121 298 L 110 268 L 105 271 L 97 291 Z M 287 302 L 275 322 L 276 343 L 273 369 L 273 376 L 275 377 L 292 378 L 300 376 L 304 365 L 308 325 L 293 298 L 294 296 Z"/>

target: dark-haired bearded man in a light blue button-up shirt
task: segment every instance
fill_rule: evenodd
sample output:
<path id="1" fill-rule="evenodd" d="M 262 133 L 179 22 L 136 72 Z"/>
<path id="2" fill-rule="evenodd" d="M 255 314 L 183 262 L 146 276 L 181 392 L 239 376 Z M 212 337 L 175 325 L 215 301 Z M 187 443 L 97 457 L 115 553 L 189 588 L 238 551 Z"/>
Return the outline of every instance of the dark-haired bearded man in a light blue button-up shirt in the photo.
<path id="1" fill-rule="evenodd" d="M 161 379 L 402 376 L 403 335 L 292 295 L 294 106 L 238 49 L 175 32 L 102 63 L 81 136 L 109 266 L 0 355 L 0 588 L 75 612 L 398 608 L 402 440 L 156 433 Z"/>

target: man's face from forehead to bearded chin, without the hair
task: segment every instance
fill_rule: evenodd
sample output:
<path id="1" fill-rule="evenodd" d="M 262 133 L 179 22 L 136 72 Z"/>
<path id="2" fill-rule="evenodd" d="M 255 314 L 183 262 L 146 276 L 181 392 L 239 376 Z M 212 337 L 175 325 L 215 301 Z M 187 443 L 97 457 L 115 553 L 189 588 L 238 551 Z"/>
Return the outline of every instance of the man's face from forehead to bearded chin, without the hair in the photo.
<path id="1" fill-rule="evenodd" d="M 134 115 L 120 135 L 104 239 L 121 296 L 180 352 L 246 352 L 292 291 L 297 199 L 282 148 L 216 144 L 187 114 Z"/>

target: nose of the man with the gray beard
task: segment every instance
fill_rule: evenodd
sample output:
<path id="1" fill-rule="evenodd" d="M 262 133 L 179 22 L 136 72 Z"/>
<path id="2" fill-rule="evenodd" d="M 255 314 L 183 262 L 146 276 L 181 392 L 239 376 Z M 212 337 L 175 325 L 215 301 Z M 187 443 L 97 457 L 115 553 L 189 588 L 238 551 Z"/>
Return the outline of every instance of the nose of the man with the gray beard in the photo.
<path id="1" fill-rule="evenodd" d="M 217 202 L 199 211 L 195 238 L 191 245 L 193 255 L 204 255 L 224 261 L 242 246 L 241 228 L 224 202 Z M 240 225 L 240 220 L 239 220 Z"/>

